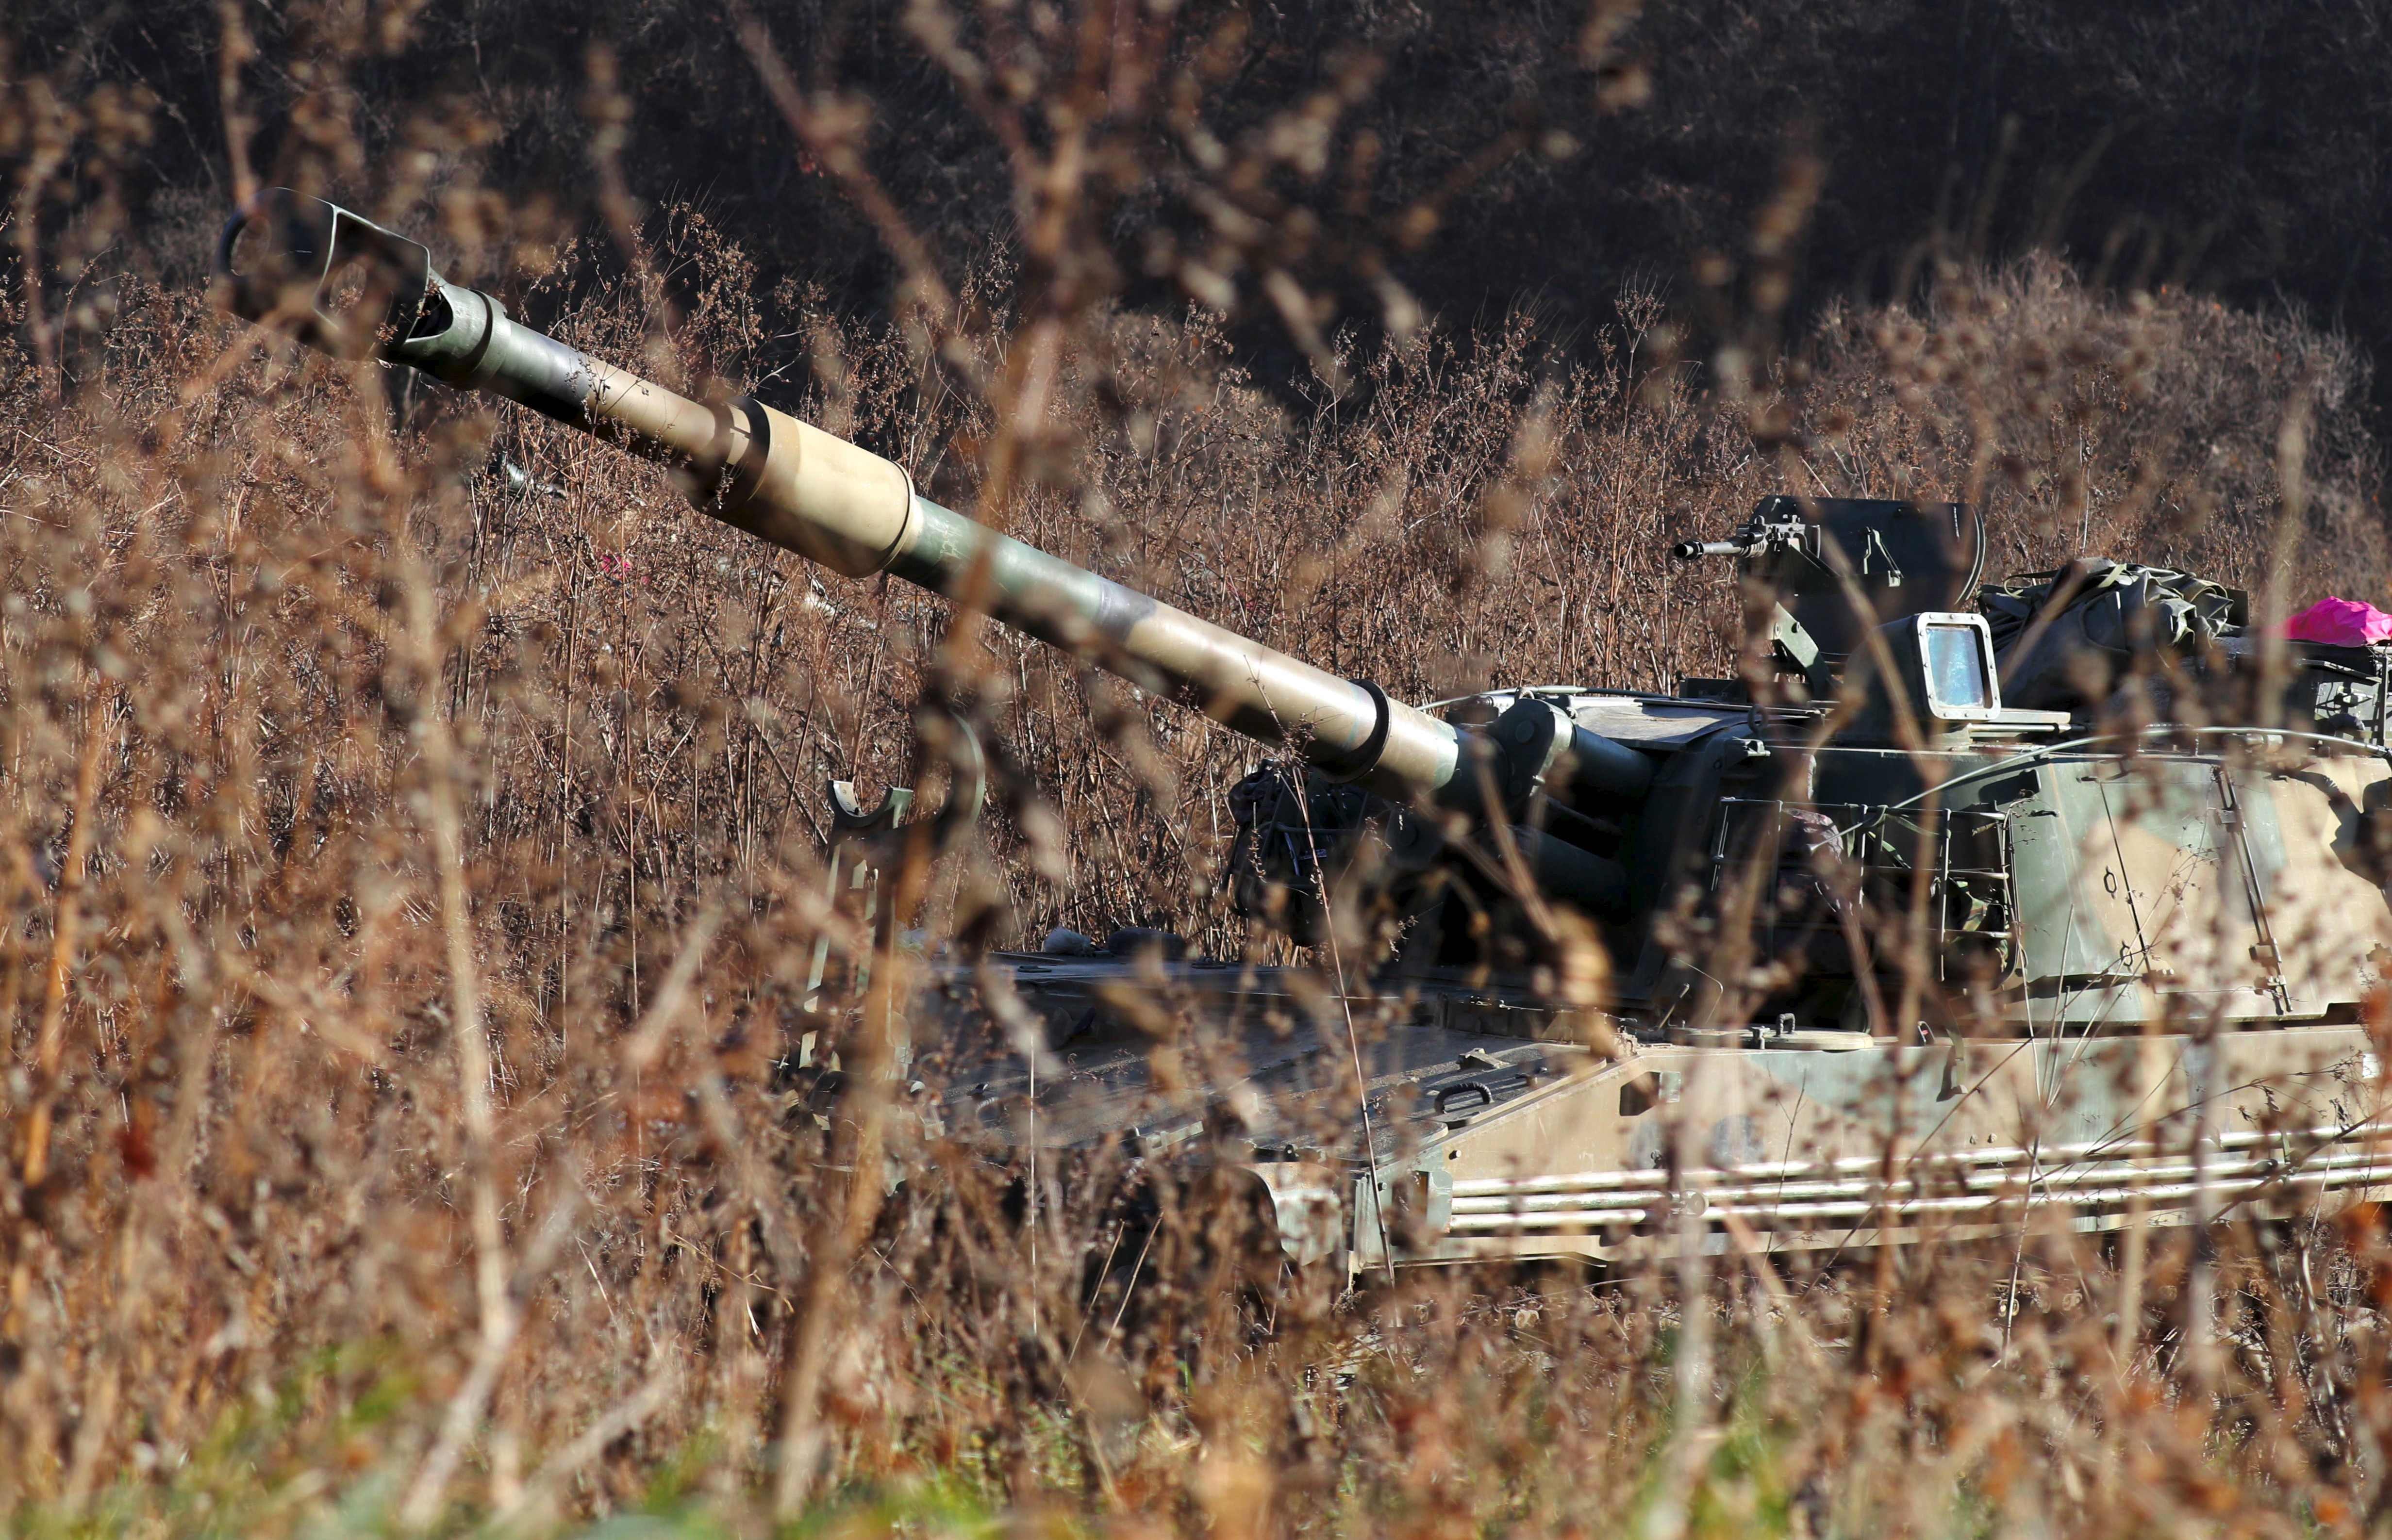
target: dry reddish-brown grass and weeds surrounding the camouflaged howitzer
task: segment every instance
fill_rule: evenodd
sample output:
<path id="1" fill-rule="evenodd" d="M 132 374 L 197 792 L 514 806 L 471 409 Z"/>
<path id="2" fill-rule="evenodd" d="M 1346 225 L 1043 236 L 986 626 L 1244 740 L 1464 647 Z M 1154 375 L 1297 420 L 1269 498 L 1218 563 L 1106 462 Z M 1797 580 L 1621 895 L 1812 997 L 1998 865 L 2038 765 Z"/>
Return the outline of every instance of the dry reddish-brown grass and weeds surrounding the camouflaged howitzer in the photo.
<path id="1" fill-rule="evenodd" d="M 1949 273 L 1705 387 L 1629 292 L 1569 356 L 1342 332 L 1273 395 L 1206 311 L 1074 289 L 1072 218 L 1043 230 L 952 299 L 914 273 L 895 323 L 756 292 L 687 215 L 562 246 L 531 306 L 1406 698 L 1725 667 L 1737 600 L 1665 548 L 1782 488 L 1978 497 L 2012 567 L 2256 581 L 2294 464 L 2294 588 L 2382 598 L 2363 361 L 2292 318 Z M 1009 777 L 928 873 L 928 945 L 1136 921 L 1234 954 L 1268 947 L 1215 890 L 1249 748 L 1038 646 L 950 648 L 940 603 L 761 550 L 663 471 L 48 261 L 0 356 L 17 1530 L 2380 1523 L 2373 1217 L 2222 1232 L 2210 1356 L 2182 1243 L 2129 1322 L 2100 1248 L 2038 1234 L 1691 1291 L 1438 1275 L 1265 1334 L 1203 1191 L 1115 1320 L 1076 1263 L 1110 1215 L 1067 1186 L 1024 1229 L 1002 1174 L 907 1148 L 938 1198 L 873 1212 L 837 1169 L 873 1145 L 770 1076 L 816 940 L 859 947 L 818 897 L 823 777 L 909 780 L 911 705 L 957 691 Z"/>

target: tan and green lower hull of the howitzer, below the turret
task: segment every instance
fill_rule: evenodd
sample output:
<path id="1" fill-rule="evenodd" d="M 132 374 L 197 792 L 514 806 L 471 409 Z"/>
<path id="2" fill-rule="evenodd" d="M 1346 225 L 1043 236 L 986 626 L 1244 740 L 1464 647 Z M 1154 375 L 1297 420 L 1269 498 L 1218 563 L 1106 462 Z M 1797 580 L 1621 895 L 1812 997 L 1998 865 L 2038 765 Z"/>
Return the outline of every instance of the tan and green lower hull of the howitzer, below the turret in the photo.
<path id="1" fill-rule="evenodd" d="M 1753 1026 L 1598 1055 L 1457 1031 L 1442 1021 L 1533 1007 L 1414 988 L 1414 1014 L 1356 1050 L 1342 1014 L 1385 1012 L 1375 995 L 1304 1000 L 1222 964 L 1000 961 L 1074 1019 L 1124 992 L 1208 1007 L 1206 1076 L 1158 1088 L 1146 1035 L 1084 1028 L 1043 1076 L 1021 1057 L 952 1067 L 935 1131 L 1007 1162 L 1107 1143 L 1229 1160 L 1304 1265 L 1636 1263 L 1686 1229 L 1705 1251 L 1842 1253 L 2392 1196 L 2363 1026 L 1938 1043 Z"/>

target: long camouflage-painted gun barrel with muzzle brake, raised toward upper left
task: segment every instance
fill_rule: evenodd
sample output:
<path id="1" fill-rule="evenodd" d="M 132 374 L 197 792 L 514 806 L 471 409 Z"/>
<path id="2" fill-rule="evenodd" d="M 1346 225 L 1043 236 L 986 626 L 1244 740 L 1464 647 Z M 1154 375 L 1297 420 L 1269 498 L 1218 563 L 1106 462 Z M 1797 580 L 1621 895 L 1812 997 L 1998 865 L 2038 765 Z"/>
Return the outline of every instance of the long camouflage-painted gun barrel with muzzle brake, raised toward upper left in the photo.
<path id="1" fill-rule="evenodd" d="M 1454 780 L 1452 725 L 1062 562 L 930 502 L 897 464 L 753 397 L 694 402 L 445 282 L 431 251 L 347 208 L 270 189 L 227 225 L 237 313 L 332 354 L 376 354 L 696 471 L 698 507 L 847 576 L 890 572 L 1170 693 L 1387 796 Z"/>

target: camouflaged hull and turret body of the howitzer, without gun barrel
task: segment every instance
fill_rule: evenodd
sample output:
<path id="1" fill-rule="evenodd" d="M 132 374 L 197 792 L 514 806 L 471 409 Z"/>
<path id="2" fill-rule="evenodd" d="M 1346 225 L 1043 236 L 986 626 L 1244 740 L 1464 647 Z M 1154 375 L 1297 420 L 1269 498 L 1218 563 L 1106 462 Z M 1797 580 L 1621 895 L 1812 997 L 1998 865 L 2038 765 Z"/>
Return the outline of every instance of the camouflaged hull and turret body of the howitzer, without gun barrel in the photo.
<path id="1" fill-rule="evenodd" d="M 1000 954 L 1048 1081 L 1033 1098 L 1019 1057 L 962 1071 L 947 1129 L 1167 1150 L 1227 1114 L 1213 1148 L 1256 1153 L 1289 1255 L 1356 1270 L 1627 1260 L 1684 1243 L 1689 1205 L 1703 1246 L 1832 1253 L 2385 1196 L 2363 1016 L 2392 957 L 2368 844 L 2392 772 L 2368 744 L 2215 729 L 2172 737 L 2232 753 L 2119 753 L 2019 713 L 1897 751 L 1818 744 L 1806 713 L 1548 698 L 1667 725 L 1655 823 L 1629 837 L 1679 858 L 1650 880 L 1691 911 L 1744 911 L 1741 961 L 1772 976 L 1746 1019 L 1658 904 L 1605 925 L 1639 961 L 1591 1019 L 1402 954 L 1347 995 L 1316 968 Z M 1928 1014 L 1897 1028 L 1904 980 L 1871 947 L 1921 935 L 1914 906 Z M 1155 1016 L 1208 1040 L 1172 1093 Z"/>

